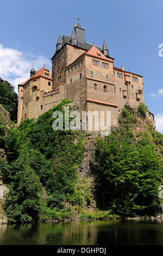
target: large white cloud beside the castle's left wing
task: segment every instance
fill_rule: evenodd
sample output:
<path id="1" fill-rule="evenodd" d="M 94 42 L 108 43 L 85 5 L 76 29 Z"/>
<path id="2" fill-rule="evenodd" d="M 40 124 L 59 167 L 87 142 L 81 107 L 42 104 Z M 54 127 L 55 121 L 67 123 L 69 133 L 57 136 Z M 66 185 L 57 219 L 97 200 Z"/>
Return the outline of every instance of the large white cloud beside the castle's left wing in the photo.
<path id="1" fill-rule="evenodd" d="M 46 57 L 33 56 L 30 53 L 5 48 L 0 44 L 0 77 L 15 86 L 16 92 L 17 84 L 29 78 L 32 65 L 35 70 L 39 70 L 44 64 L 51 71 L 51 62 Z"/>

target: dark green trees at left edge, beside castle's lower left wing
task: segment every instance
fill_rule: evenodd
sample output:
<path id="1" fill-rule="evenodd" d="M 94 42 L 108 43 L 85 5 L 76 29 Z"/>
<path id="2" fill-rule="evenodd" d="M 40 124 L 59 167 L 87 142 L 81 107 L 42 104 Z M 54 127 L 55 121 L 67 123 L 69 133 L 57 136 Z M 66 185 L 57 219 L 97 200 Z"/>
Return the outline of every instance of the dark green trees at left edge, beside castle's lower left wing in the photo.
<path id="1" fill-rule="evenodd" d="M 11 120 L 15 122 L 17 119 L 17 102 L 18 97 L 14 92 L 14 86 L 0 78 L 0 104 L 10 113 Z"/>

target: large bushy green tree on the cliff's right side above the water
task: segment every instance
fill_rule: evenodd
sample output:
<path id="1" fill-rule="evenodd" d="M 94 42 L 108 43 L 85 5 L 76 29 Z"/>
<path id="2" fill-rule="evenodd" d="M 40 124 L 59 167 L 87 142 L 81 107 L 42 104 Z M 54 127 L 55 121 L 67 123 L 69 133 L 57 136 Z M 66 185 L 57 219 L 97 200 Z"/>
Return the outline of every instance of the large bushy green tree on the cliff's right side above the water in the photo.
<path id="1" fill-rule="evenodd" d="M 150 143 L 152 135 L 142 134 L 136 141 L 132 132 L 135 117 L 123 109 L 121 123 L 105 141 L 97 139 L 96 196 L 100 208 L 109 208 L 128 216 L 159 208 L 161 156 Z"/>

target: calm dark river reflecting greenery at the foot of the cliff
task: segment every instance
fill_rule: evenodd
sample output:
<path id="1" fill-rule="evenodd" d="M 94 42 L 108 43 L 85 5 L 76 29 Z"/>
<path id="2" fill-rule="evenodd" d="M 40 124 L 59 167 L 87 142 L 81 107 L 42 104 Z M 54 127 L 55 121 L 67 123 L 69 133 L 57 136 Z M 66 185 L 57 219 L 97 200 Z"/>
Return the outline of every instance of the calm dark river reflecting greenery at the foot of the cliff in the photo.
<path id="1" fill-rule="evenodd" d="M 0 245 L 163 245 L 163 220 L 0 225 Z"/>

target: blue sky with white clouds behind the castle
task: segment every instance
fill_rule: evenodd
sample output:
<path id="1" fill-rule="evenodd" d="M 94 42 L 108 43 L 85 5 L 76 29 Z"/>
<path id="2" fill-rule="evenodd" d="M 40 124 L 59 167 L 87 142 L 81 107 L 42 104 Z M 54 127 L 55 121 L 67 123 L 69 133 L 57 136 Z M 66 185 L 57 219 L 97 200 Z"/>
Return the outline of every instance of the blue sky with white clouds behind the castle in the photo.
<path id="1" fill-rule="evenodd" d="M 17 87 L 32 65 L 51 69 L 59 31 L 71 35 L 79 15 L 87 42 L 102 46 L 105 37 L 115 66 L 143 75 L 146 105 L 163 133 L 162 13 L 162 0 L 1 1 L 0 77 Z"/>

